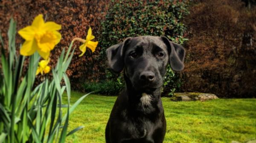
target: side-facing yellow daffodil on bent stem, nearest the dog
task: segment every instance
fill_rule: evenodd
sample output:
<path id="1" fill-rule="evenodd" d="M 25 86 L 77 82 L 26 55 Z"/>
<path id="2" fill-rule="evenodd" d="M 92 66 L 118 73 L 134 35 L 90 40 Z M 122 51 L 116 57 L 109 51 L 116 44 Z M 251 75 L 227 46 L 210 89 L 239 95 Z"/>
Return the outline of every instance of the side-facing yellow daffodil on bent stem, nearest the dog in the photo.
<path id="1" fill-rule="evenodd" d="M 97 45 L 98 45 L 98 41 L 93 42 L 91 40 L 93 40 L 95 37 L 92 35 L 92 29 L 89 28 L 86 39 L 81 39 L 81 38 L 74 38 L 74 40 L 79 40 L 81 42 L 83 42 L 83 44 L 79 47 L 80 51 L 82 52 L 79 57 L 81 57 L 82 55 L 84 55 L 85 51 L 86 51 L 86 47 L 88 47 L 89 49 L 92 50 L 92 52 L 95 51 Z M 74 41 L 73 40 L 73 41 Z"/>

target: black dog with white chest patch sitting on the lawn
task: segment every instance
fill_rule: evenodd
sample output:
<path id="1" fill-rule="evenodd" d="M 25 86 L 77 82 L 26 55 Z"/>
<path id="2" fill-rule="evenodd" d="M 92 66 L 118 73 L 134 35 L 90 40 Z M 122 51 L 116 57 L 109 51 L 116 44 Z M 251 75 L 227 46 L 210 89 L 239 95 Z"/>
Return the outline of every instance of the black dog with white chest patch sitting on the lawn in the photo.
<path id="1" fill-rule="evenodd" d="M 110 68 L 124 69 L 126 87 L 117 97 L 106 126 L 106 143 L 163 143 L 166 119 L 160 88 L 168 61 L 183 69 L 185 50 L 166 37 L 127 38 L 107 49 Z"/>

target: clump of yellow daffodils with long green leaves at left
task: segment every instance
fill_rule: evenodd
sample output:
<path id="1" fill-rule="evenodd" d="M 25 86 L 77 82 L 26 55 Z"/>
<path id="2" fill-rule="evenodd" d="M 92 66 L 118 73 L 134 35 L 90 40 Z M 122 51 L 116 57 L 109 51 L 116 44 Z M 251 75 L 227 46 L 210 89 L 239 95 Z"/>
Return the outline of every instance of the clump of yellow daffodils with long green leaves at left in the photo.
<path id="1" fill-rule="evenodd" d="M 69 115 L 88 95 L 82 96 L 70 107 L 71 87 L 66 70 L 73 57 L 74 49 L 70 54 L 73 42 L 66 53 L 65 49 L 62 50 L 55 68 L 51 70 L 48 66 L 50 51 L 61 40 L 58 32 L 60 29 L 61 25 L 44 22 L 43 15 L 39 14 L 31 26 L 18 31 L 25 39 L 20 55 L 16 52 L 14 20 L 11 20 L 8 31 L 9 54 L 3 48 L 0 33 L 0 143 L 64 143 L 68 135 L 82 128 L 79 126 L 67 133 Z M 94 38 L 90 33 L 85 47 L 93 51 L 96 44 L 90 42 Z M 23 72 L 25 56 L 29 56 L 29 65 L 26 72 Z M 44 60 L 40 61 L 41 57 Z M 40 85 L 35 86 L 36 74 L 46 74 L 50 70 L 53 78 L 44 78 Z M 63 79 L 65 86 L 60 84 Z M 64 92 L 67 93 L 67 105 L 62 105 Z M 64 116 L 63 108 L 67 108 Z"/>

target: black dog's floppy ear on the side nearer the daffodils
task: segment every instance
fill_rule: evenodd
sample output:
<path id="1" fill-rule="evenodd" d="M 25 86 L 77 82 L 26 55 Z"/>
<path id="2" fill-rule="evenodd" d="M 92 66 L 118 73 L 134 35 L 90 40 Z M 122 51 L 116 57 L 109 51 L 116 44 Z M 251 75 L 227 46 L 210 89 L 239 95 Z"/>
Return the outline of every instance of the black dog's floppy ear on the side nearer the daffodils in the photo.
<path id="1" fill-rule="evenodd" d="M 109 47 L 106 50 L 106 54 L 108 57 L 108 65 L 113 72 L 119 73 L 124 68 L 124 54 L 125 54 L 125 46 L 131 40 L 131 37 L 126 38 L 122 43 L 118 43 Z"/>

